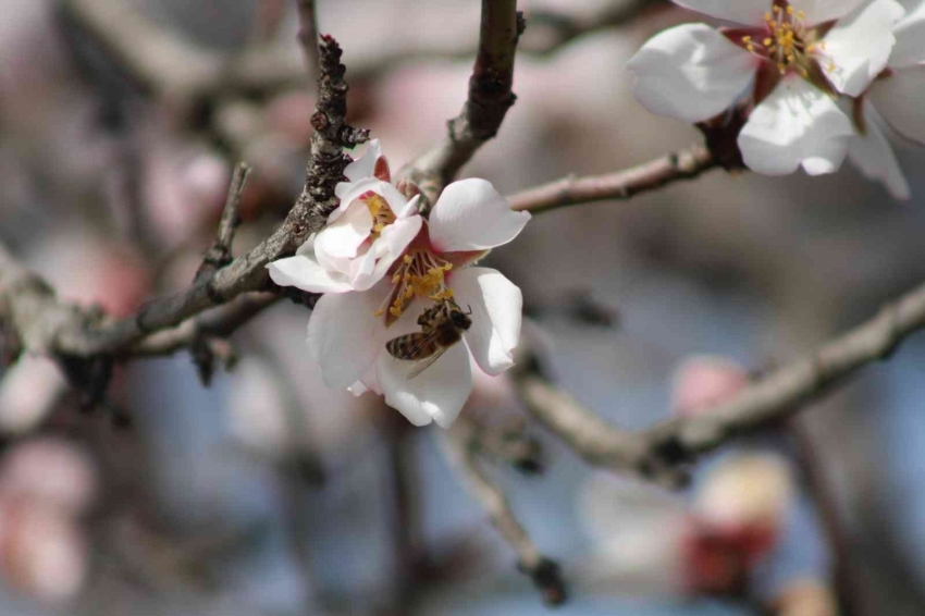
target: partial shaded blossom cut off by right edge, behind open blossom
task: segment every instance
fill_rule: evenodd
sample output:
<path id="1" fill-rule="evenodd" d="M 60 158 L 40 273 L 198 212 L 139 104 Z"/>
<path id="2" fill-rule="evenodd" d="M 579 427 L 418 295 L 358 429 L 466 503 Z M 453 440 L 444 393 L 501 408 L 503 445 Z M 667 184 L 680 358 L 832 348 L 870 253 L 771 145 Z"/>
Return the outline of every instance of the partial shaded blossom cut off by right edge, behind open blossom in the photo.
<path id="1" fill-rule="evenodd" d="M 903 0 L 911 8 L 911 0 Z M 853 106 L 858 136 L 848 156 L 861 172 L 884 183 L 897 199 L 911 197 L 885 132 L 884 120 L 900 135 L 925 144 L 925 113 L 915 101 L 925 100 L 925 4 L 920 3 L 893 28 L 896 46 L 887 69 Z"/>

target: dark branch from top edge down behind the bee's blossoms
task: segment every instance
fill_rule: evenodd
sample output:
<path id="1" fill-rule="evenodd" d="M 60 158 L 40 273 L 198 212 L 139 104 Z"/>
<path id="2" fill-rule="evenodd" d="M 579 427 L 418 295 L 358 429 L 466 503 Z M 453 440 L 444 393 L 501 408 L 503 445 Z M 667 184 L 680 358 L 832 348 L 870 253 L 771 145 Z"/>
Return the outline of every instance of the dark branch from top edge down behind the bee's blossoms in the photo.
<path id="1" fill-rule="evenodd" d="M 525 25 L 516 0 L 482 0 L 479 51 L 466 104 L 447 123 L 443 141 L 403 170 L 431 202 L 476 150 L 497 134 L 514 104 L 514 57 Z"/>

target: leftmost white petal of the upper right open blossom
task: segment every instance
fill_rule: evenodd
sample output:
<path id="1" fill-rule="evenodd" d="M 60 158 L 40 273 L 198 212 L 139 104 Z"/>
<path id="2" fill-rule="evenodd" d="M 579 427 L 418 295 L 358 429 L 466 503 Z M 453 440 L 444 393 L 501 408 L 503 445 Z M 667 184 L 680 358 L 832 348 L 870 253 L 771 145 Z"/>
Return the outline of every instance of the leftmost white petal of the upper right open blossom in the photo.
<path id="1" fill-rule="evenodd" d="M 728 109 L 752 82 L 757 58 L 704 24 L 651 38 L 629 62 L 636 99 L 645 109 L 701 122 Z"/>

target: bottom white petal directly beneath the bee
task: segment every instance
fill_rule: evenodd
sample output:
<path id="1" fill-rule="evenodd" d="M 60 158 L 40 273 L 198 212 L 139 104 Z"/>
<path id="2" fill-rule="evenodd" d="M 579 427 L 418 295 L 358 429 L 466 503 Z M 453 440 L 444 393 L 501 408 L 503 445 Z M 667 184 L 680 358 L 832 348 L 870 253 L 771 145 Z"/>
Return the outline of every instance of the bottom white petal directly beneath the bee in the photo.
<path id="1" fill-rule="evenodd" d="M 469 350 L 464 343 L 449 347 L 423 372 L 408 379 L 417 362 L 395 359 L 381 353 L 377 359 L 377 377 L 385 404 L 398 410 L 415 426 L 436 421 L 441 428 L 459 415 L 472 391 Z"/>

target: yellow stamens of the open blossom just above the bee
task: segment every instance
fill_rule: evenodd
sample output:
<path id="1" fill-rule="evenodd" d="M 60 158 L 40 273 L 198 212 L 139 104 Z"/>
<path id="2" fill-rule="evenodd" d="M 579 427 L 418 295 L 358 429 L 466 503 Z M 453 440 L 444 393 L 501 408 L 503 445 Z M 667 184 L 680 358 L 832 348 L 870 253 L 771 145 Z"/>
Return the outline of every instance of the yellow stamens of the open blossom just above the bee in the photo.
<path id="1" fill-rule="evenodd" d="M 386 325 L 391 325 L 405 311 L 405 307 L 414 299 L 432 299 L 440 301 L 453 298 L 453 289 L 446 285 L 446 272 L 453 269 L 453 263 L 441 259 L 425 248 L 412 248 L 398 262 L 392 274 L 395 285 L 388 295 L 388 315 Z M 385 312 L 383 307 L 377 310 L 379 317 Z"/>

